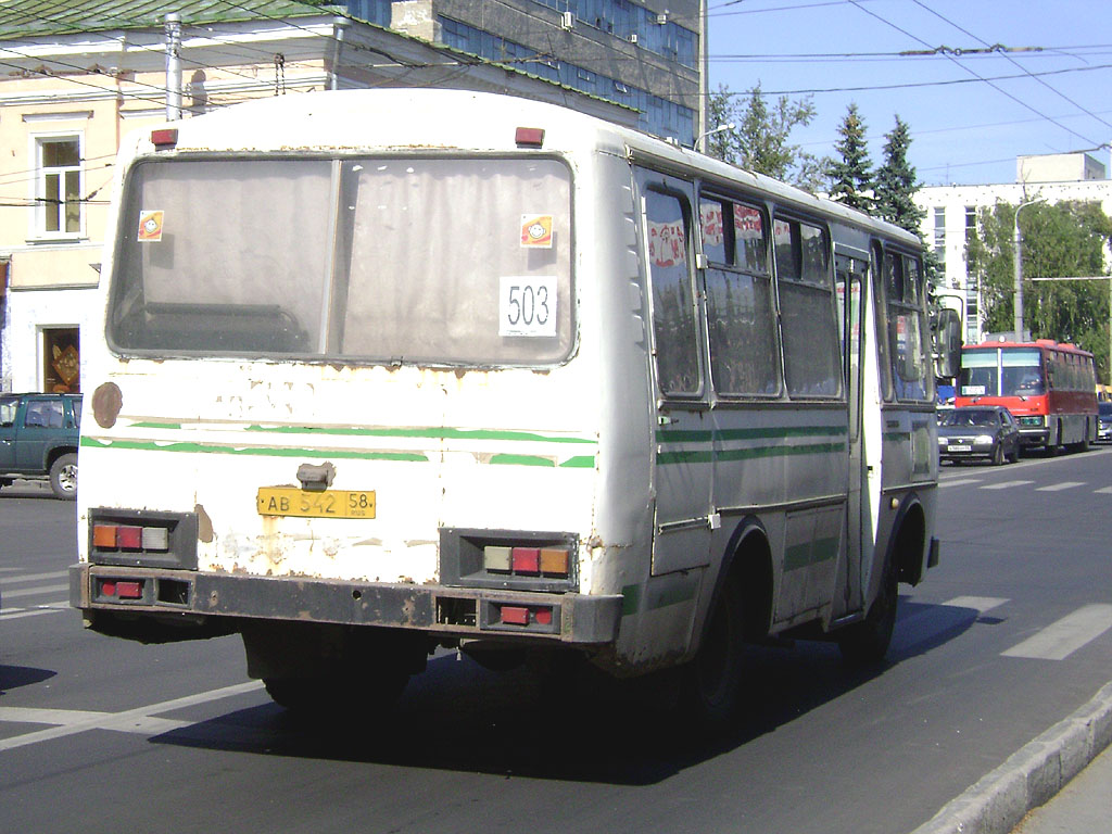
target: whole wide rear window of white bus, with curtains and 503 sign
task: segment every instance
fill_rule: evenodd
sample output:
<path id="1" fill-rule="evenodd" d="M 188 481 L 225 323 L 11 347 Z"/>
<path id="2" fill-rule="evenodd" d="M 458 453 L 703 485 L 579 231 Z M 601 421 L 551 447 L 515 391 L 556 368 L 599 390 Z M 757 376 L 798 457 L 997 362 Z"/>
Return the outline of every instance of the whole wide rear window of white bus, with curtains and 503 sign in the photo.
<path id="1" fill-rule="evenodd" d="M 553 159 L 136 166 L 108 336 L 122 353 L 419 365 L 570 351 L 570 177 Z"/>

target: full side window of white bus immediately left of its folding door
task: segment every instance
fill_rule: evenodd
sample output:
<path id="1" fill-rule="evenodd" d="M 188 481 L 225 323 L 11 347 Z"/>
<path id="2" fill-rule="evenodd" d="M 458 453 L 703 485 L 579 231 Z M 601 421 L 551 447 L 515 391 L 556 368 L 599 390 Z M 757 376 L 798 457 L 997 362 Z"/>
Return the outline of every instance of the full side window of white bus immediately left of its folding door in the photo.
<path id="1" fill-rule="evenodd" d="M 797 220 L 773 222 L 784 373 L 793 397 L 842 394 L 834 278 L 826 235 Z"/>

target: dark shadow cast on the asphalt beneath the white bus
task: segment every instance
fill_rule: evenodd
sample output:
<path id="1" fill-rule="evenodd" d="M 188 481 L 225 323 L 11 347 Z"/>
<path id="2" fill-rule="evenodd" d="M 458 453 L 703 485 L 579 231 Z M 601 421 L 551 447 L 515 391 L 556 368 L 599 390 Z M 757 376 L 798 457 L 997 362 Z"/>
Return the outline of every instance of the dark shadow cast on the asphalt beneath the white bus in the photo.
<path id="1" fill-rule="evenodd" d="M 857 689 L 900 661 L 952 639 L 976 616 L 904 599 L 890 661 L 868 668 L 845 664 L 833 644 L 749 646 L 738 717 L 713 734 L 698 732 L 677 709 L 666 676 L 618 682 L 582 666 L 496 673 L 449 655 L 431 659 L 386 714 L 309 719 L 265 704 L 152 741 L 504 778 L 655 784 Z M 909 642 L 904 620 L 930 622 L 931 636 Z"/>

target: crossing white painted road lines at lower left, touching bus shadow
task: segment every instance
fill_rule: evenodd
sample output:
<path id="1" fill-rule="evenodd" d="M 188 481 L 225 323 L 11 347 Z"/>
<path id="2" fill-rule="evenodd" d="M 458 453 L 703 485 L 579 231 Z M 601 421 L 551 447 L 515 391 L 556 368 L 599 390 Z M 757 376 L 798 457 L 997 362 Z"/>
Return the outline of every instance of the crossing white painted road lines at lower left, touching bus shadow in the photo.
<path id="1" fill-rule="evenodd" d="M 62 738 L 77 733 L 85 733 L 88 729 L 115 729 L 122 733 L 146 733 L 158 735 L 171 729 L 180 729 L 183 726 L 191 726 L 202 722 L 180 722 L 171 718 L 159 718 L 157 713 L 168 713 L 171 709 L 181 709 L 196 704 L 205 704 L 209 701 L 219 701 L 235 695 L 242 695 L 247 692 L 255 692 L 262 688 L 261 681 L 248 681 L 247 683 L 225 686 L 220 689 L 187 695 L 182 698 L 163 701 L 159 704 L 140 706 L 135 709 L 126 709 L 122 713 L 79 713 L 71 709 L 29 709 L 20 711 L 19 707 L 0 707 L 0 721 L 24 721 L 32 714 L 38 716 L 32 723 L 54 724 L 48 729 L 38 729 L 33 733 L 24 733 L 12 738 L 0 738 L 0 753 L 16 747 L 24 747 L 29 744 L 48 742 L 53 738 Z M 11 715 L 22 717 L 10 718 Z M 53 715 L 54 717 L 51 717 Z"/>

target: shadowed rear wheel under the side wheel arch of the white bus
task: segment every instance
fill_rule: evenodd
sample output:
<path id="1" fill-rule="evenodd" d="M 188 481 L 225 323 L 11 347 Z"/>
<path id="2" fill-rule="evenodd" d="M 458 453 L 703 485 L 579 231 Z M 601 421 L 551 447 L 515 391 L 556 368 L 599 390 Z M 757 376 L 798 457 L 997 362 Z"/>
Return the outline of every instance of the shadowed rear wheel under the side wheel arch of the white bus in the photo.
<path id="1" fill-rule="evenodd" d="M 701 727 L 722 727 L 733 717 L 742 682 L 742 643 L 741 595 L 729 580 L 695 659 L 681 671 L 681 709 Z"/>

